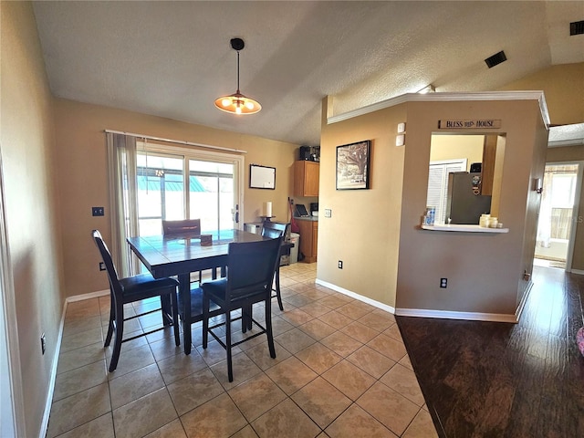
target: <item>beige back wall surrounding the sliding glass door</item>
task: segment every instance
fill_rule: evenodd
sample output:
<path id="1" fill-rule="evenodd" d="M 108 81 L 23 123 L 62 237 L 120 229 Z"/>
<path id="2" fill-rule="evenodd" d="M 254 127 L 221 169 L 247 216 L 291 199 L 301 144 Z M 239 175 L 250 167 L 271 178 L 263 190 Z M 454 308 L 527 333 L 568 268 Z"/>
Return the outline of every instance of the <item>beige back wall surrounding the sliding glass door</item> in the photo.
<path id="1" fill-rule="evenodd" d="M 277 221 L 287 221 L 287 197 L 292 193 L 291 166 L 297 145 L 65 99 L 56 99 L 55 126 L 57 187 L 64 230 L 64 285 L 68 297 L 108 288 L 105 272 L 99 272 L 99 253 L 90 239 L 91 230 L 98 228 L 106 241 L 110 241 L 104 130 L 247 151 L 244 154 L 244 222 L 259 220 L 257 215 L 266 201 L 273 203 Z M 276 190 L 249 188 L 250 163 L 276 167 Z M 105 216 L 92 217 L 91 207 L 100 205 L 105 206 Z"/>

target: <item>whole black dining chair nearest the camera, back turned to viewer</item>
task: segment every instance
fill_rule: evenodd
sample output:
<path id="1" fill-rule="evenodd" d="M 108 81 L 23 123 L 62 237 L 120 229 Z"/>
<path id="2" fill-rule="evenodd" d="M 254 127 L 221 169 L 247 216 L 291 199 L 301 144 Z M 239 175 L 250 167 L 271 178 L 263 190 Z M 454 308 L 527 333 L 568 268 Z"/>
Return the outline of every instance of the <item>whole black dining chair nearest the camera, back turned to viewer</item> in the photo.
<path id="1" fill-rule="evenodd" d="M 227 375 L 229 381 L 234 381 L 231 349 L 236 345 L 266 334 L 270 357 L 276 358 L 274 335 L 272 333 L 272 282 L 279 264 L 280 245 L 282 237 L 266 239 L 257 242 L 242 242 L 229 244 L 227 255 L 227 276 L 214 281 L 205 282 L 203 288 L 203 349 L 207 348 L 209 333 L 227 351 Z M 259 324 L 248 309 L 255 303 L 264 302 L 266 309 L 266 327 Z M 210 306 L 214 302 L 224 314 L 224 322 L 209 327 Z M 241 309 L 241 316 L 231 318 L 231 312 Z M 260 331 L 245 337 L 238 342 L 232 342 L 232 321 L 250 318 Z M 224 326 L 225 341 L 214 332 L 215 328 Z M 245 325 L 242 326 L 243 331 Z"/>

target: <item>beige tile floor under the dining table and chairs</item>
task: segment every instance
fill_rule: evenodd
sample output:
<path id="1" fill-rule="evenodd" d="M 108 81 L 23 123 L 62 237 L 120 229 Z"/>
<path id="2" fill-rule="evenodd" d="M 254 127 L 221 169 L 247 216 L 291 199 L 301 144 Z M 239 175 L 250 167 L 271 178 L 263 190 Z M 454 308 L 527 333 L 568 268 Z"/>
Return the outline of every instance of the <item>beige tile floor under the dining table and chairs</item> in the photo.
<path id="1" fill-rule="evenodd" d="M 213 342 L 203 350 L 200 325 L 189 356 L 169 328 L 124 343 L 109 373 L 110 297 L 69 303 L 47 437 L 437 436 L 393 316 L 316 285 L 315 276 L 316 264 L 282 266 L 277 357 L 265 336 L 241 344 L 231 383 L 224 349 Z M 155 313 L 126 330 L 160 322 Z"/>

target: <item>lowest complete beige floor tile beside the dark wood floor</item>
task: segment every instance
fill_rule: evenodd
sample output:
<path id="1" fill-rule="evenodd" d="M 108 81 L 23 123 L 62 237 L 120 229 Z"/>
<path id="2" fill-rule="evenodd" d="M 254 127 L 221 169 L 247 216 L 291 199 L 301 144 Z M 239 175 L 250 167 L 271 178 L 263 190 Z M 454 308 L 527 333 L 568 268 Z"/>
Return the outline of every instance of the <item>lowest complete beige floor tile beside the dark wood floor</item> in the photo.
<path id="1" fill-rule="evenodd" d="M 400 436 L 420 411 L 420 407 L 381 382 L 360 396 L 357 404 Z"/>

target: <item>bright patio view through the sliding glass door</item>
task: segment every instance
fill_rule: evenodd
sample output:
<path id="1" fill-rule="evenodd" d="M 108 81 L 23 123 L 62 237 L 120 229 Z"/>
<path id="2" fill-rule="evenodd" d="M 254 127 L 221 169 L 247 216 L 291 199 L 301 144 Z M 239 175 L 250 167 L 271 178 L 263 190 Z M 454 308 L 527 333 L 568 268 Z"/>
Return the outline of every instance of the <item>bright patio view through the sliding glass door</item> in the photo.
<path id="1" fill-rule="evenodd" d="M 203 232 L 236 228 L 238 163 L 157 146 L 138 144 L 139 234 L 160 235 L 162 220 L 201 219 Z"/>

